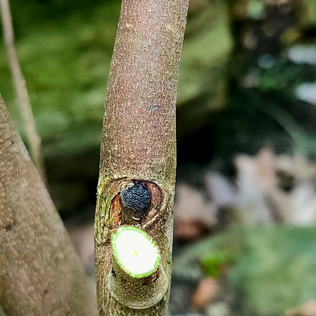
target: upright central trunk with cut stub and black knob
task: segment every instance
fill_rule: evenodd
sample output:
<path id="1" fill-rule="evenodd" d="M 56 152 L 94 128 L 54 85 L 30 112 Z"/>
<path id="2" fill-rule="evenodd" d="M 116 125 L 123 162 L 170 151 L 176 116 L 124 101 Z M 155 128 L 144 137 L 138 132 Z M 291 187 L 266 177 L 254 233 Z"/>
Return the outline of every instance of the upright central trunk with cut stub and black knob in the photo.
<path id="1" fill-rule="evenodd" d="M 122 2 L 107 87 L 95 215 L 100 315 L 166 313 L 176 167 L 175 103 L 188 2 Z M 128 226 L 118 231 L 123 225 Z M 123 243 L 118 241 L 119 234 Z M 141 236 L 147 246 L 138 242 Z M 152 259 L 155 265 L 150 270 L 145 266 Z"/>

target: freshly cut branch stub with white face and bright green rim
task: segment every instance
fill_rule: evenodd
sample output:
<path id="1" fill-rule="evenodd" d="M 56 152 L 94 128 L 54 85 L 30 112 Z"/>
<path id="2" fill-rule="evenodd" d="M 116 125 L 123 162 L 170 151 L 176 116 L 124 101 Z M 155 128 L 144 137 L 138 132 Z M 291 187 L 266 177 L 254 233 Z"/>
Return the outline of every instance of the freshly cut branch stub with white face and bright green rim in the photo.
<path id="1" fill-rule="evenodd" d="M 135 226 L 120 226 L 112 233 L 111 250 L 108 284 L 116 300 L 138 309 L 163 299 L 168 283 L 160 265 L 160 252 L 145 231 Z"/>

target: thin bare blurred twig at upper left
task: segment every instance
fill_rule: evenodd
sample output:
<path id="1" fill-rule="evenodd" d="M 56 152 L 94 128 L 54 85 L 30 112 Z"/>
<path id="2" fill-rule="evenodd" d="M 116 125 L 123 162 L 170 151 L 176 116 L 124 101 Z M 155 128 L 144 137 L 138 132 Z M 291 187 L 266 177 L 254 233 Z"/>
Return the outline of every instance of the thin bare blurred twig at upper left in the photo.
<path id="1" fill-rule="evenodd" d="M 18 105 L 20 107 L 21 116 L 24 123 L 25 134 L 30 148 L 30 155 L 34 161 L 37 170 L 42 179 L 46 181 L 44 159 L 41 154 L 41 139 L 36 129 L 36 124 L 30 104 L 30 99 L 27 93 L 25 79 L 23 77 L 19 60 L 17 58 L 14 47 L 14 32 L 12 26 L 12 18 L 8 0 L 0 0 L 1 18 L 3 24 L 3 35 L 5 45 L 8 51 L 10 68 L 12 72 L 13 82 L 15 85 Z"/>

